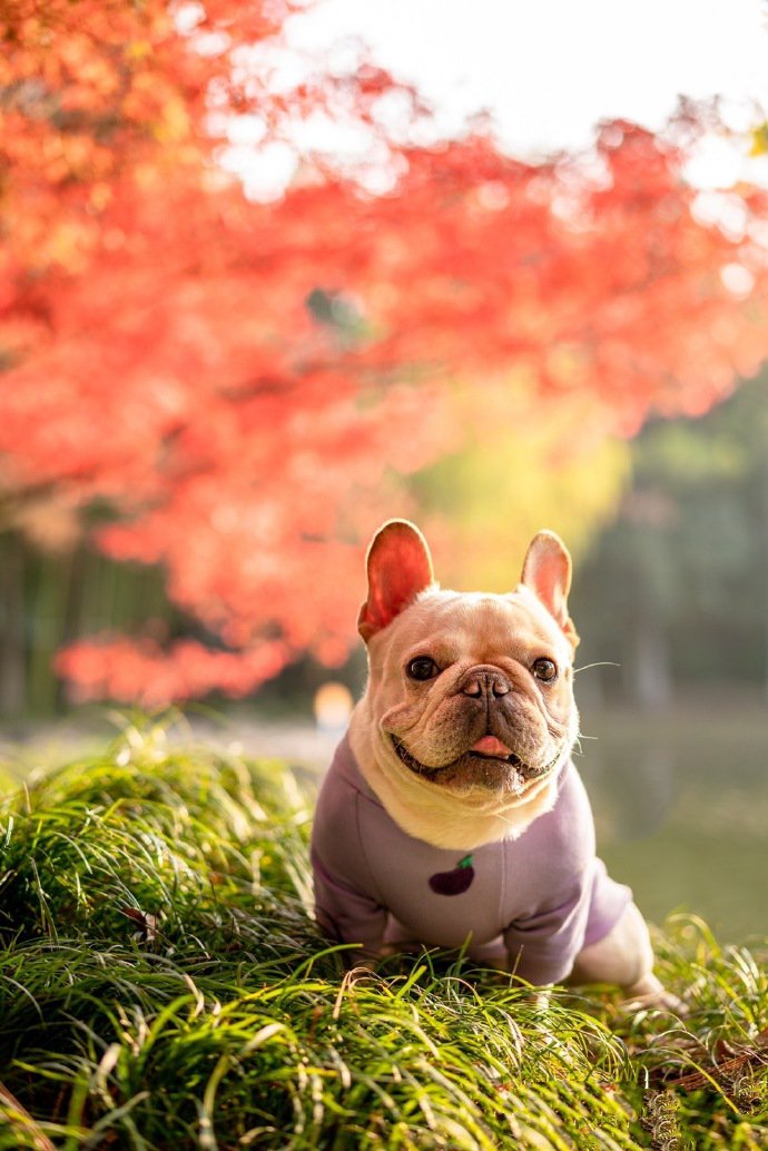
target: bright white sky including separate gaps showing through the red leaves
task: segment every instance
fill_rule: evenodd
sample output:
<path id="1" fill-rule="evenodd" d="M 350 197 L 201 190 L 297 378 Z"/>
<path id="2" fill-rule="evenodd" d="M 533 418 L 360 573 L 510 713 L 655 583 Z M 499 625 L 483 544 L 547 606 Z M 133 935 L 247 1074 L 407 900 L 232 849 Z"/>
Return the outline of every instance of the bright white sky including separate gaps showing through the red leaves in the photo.
<path id="1" fill-rule="evenodd" d="M 413 83 L 446 135 L 489 113 L 502 146 L 523 159 L 588 146 L 594 125 L 626 117 L 657 130 L 678 96 L 724 100 L 733 128 L 768 110 L 768 0 L 307 0 L 286 25 L 287 85 L 313 67 L 344 70 L 367 56 Z M 358 46 L 356 49 L 356 45 Z M 274 64 L 274 58 L 271 58 Z M 257 64 L 258 67 L 258 64 Z M 763 112 L 765 114 L 765 112 Z M 254 117 L 228 127 L 222 165 L 256 198 L 280 195 L 296 170 L 287 145 L 267 144 Z M 349 125 L 297 128 L 301 146 L 362 154 Z M 686 176 L 702 189 L 739 178 L 768 185 L 768 157 L 710 137 Z"/>

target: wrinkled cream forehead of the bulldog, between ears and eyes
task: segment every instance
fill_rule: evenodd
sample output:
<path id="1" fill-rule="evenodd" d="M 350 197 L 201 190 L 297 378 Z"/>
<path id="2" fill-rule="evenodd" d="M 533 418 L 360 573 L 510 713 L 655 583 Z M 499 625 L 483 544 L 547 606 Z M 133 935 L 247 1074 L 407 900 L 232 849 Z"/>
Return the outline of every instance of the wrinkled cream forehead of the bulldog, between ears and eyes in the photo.
<path id="1" fill-rule="evenodd" d="M 570 663 L 572 648 L 555 619 L 527 588 L 508 595 L 429 588 L 381 634 L 390 655 L 441 651 L 451 660 L 496 663 L 556 654 Z"/>

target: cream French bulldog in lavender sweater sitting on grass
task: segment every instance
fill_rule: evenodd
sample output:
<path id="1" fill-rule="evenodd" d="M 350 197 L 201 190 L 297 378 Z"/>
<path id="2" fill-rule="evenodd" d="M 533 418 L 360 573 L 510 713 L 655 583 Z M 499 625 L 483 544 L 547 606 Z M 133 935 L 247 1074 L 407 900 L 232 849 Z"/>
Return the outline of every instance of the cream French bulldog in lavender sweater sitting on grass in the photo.
<path id="1" fill-rule="evenodd" d="M 370 676 L 318 798 L 317 920 L 371 965 L 462 950 L 534 986 L 614 983 L 670 1006 L 629 887 L 595 855 L 578 734 L 571 558 L 531 542 L 505 595 L 443 590 L 420 531 L 367 554 Z"/>

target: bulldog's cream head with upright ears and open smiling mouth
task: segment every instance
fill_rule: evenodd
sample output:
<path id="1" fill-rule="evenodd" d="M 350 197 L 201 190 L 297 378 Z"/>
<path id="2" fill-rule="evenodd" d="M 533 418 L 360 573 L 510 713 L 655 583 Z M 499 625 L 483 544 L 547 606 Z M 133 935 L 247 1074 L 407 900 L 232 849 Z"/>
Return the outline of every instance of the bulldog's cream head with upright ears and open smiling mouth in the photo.
<path id="1" fill-rule="evenodd" d="M 514 592 L 458 594 L 434 584 L 418 528 L 393 520 L 367 572 L 370 681 L 352 747 L 368 782 L 439 846 L 518 834 L 552 806 L 578 727 L 565 546 L 541 532 Z"/>

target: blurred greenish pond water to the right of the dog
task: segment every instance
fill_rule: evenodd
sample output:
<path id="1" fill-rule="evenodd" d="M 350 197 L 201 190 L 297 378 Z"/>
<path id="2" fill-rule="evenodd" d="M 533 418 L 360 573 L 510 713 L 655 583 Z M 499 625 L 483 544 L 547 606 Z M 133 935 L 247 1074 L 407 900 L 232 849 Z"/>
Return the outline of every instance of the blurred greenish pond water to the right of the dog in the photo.
<path id="1" fill-rule="evenodd" d="M 768 707 L 715 698 L 661 714 L 583 707 L 599 852 L 647 918 L 701 915 L 768 937 Z"/>

